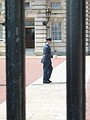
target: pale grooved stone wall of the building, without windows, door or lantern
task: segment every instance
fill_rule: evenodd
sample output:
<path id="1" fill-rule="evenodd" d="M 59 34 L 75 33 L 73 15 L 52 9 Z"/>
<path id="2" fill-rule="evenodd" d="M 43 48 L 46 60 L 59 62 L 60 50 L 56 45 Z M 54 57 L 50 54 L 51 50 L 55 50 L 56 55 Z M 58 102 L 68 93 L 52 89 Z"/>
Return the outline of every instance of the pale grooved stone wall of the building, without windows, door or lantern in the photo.
<path id="1" fill-rule="evenodd" d="M 5 17 L 5 1 L 0 0 L 2 3 L 2 14 L 0 15 L 0 21 L 4 21 Z M 29 6 L 25 9 L 25 18 L 34 18 L 35 23 L 35 55 L 41 55 L 44 46 L 45 38 L 51 36 L 51 23 L 53 21 L 61 22 L 62 39 L 61 41 L 53 41 L 52 51 L 56 50 L 58 55 L 64 55 L 66 53 L 66 0 L 25 0 L 29 2 Z M 43 25 L 46 21 L 45 9 L 51 7 L 51 2 L 61 2 L 61 9 L 52 10 L 50 22 L 48 28 Z M 90 1 L 86 2 L 86 52 L 90 53 Z M 5 27 L 3 27 L 3 42 L 0 42 L 1 46 L 5 48 Z"/>

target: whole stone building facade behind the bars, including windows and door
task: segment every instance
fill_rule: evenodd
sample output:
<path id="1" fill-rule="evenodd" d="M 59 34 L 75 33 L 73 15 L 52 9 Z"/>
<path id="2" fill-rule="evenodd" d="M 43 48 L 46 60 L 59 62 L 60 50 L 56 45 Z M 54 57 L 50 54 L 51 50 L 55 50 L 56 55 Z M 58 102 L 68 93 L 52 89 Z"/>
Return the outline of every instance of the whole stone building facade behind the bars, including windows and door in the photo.
<path id="1" fill-rule="evenodd" d="M 51 10 L 47 25 L 46 10 Z M 90 2 L 86 2 L 86 52 L 90 52 Z M 5 3 L 0 0 L 0 23 L 4 22 Z M 52 52 L 66 54 L 66 0 L 25 0 L 26 49 L 33 49 L 35 55 L 42 55 L 45 38 L 52 38 Z M 0 24 L 0 51 L 5 49 L 5 26 Z"/>

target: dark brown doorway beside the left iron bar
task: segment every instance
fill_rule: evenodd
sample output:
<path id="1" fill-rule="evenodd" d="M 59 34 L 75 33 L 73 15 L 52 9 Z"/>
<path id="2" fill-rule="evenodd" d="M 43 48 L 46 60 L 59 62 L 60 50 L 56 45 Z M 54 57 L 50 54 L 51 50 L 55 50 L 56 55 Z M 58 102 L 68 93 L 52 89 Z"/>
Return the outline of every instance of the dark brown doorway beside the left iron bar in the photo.
<path id="1" fill-rule="evenodd" d="M 34 28 L 25 28 L 25 34 L 26 34 L 26 48 L 35 48 L 35 37 L 34 34 L 35 30 Z"/>

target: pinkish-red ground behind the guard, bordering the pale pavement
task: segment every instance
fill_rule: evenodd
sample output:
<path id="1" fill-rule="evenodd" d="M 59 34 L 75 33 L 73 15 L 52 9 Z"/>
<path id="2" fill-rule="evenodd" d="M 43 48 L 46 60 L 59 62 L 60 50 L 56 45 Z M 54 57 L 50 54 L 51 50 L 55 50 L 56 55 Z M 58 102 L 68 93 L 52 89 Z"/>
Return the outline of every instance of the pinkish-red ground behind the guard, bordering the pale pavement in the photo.
<path id="1" fill-rule="evenodd" d="M 33 83 L 42 76 L 41 58 L 26 58 L 25 60 L 25 76 L 26 86 Z M 64 58 L 53 58 L 53 67 L 62 63 Z M 0 58 L 0 104 L 6 100 L 6 61 Z"/>

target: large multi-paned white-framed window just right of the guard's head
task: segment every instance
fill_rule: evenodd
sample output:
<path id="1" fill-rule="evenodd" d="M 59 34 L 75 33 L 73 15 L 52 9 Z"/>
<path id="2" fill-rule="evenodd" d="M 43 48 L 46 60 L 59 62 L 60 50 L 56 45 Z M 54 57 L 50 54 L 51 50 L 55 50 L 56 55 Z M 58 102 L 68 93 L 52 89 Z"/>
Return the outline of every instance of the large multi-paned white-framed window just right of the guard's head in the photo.
<path id="1" fill-rule="evenodd" d="M 61 22 L 51 23 L 51 37 L 53 40 L 61 40 Z"/>

